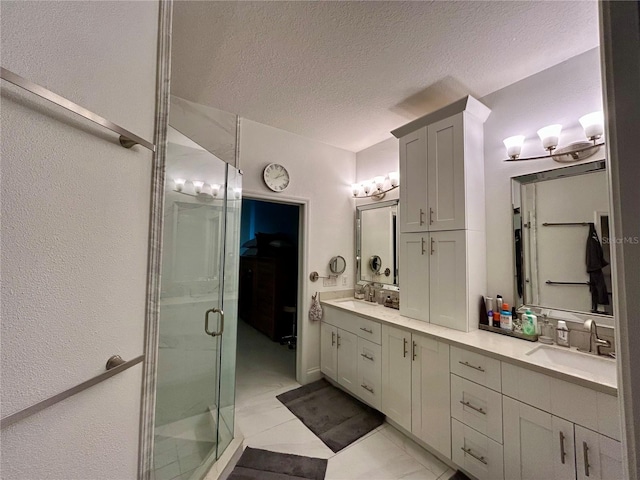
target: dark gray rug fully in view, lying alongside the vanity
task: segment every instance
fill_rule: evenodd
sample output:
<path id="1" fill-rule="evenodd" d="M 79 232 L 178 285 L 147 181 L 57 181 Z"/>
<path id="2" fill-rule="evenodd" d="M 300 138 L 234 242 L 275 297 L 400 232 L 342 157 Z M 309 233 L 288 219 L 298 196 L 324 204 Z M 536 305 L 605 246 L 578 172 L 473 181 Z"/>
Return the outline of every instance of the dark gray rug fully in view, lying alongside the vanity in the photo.
<path id="1" fill-rule="evenodd" d="M 333 452 L 382 425 L 384 415 L 326 380 L 276 397 Z"/>

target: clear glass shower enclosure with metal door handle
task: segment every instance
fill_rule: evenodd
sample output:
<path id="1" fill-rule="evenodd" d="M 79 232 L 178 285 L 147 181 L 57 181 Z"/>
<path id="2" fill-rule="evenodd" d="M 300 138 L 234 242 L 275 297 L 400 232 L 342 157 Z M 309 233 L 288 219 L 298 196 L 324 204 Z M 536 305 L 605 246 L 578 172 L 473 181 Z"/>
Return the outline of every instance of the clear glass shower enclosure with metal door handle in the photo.
<path id="1" fill-rule="evenodd" d="M 154 467 L 195 480 L 233 438 L 241 190 L 233 167 L 172 128 L 166 165 Z"/>

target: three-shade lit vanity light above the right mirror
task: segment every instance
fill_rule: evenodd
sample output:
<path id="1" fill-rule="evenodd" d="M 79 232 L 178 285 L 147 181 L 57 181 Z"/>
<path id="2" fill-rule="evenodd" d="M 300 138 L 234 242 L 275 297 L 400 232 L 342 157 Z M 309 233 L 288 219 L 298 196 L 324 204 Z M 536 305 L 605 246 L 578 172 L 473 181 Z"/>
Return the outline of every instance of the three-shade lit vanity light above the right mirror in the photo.
<path id="1" fill-rule="evenodd" d="M 596 143 L 598 139 L 602 138 L 602 134 L 604 133 L 604 115 L 602 112 L 592 112 L 580 117 L 579 121 L 584 129 L 585 136 L 590 142 L 575 142 L 558 149 L 562 125 L 547 125 L 538 130 L 538 136 L 542 141 L 542 146 L 549 152 L 547 155 L 520 158 L 525 137 L 523 135 L 514 135 L 513 137 L 503 140 L 504 146 L 507 149 L 507 156 L 509 157 L 507 161 L 552 158 L 556 162 L 568 163 L 589 158 L 604 145 L 604 142 Z"/>

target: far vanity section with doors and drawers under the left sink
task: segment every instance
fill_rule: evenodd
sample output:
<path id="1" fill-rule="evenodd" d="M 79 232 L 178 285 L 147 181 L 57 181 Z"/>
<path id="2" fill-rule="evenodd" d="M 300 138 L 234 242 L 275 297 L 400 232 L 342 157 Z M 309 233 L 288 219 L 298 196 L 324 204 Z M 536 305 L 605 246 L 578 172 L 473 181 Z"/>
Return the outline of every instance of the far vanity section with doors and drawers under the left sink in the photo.
<path id="1" fill-rule="evenodd" d="M 325 308 L 320 325 L 320 371 L 374 408 L 381 403 L 381 325 Z"/>

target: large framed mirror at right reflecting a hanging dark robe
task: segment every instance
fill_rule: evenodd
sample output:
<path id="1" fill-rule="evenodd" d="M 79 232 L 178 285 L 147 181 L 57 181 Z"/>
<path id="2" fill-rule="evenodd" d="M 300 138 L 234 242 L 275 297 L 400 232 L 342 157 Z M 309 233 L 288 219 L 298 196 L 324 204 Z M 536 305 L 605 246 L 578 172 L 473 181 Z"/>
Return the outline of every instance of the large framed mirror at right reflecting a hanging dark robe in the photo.
<path id="1" fill-rule="evenodd" d="M 605 162 L 512 178 L 516 304 L 613 315 Z"/>

